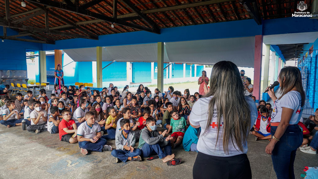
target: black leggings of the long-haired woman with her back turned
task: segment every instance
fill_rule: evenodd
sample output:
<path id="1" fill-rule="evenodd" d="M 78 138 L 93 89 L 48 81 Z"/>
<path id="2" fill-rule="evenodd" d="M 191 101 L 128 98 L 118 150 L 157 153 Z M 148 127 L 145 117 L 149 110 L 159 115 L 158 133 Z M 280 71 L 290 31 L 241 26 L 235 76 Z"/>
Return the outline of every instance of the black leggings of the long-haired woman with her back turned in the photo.
<path id="1" fill-rule="evenodd" d="M 250 161 L 246 154 L 217 157 L 198 152 L 193 166 L 193 178 L 251 179 Z"/>

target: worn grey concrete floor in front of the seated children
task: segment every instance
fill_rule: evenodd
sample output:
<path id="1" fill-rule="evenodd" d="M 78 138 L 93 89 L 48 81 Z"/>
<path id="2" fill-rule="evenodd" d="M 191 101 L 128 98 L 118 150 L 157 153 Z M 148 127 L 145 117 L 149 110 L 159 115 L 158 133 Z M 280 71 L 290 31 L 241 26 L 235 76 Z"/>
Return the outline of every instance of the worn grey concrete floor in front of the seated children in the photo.
<path id="1" fill-rule="evenodd" d="M 268 141 L 254 141 L 249 136 L 248 158 L 253 178 L 275 179 L 270 155 L 265 153 Z M 115 141 L 108 145 L 115 148 Z M 173 150 L 182 164 L 167 166 L 156 159 L 142 162 L 115 163 L 110 152 L 92 152 L 82 155 L 78 143 L 59 140 L 58 134 L 23 131 L 21 126 L 0 125 L 0 178 L 192 178 L 192 167 L 197 153 L 185 152 L 182 147 Z M 305 166 L 318 166 L 318 155 L 305 154 L 299 149 L 294 163 L 295 177 L 301 178 Z"/>

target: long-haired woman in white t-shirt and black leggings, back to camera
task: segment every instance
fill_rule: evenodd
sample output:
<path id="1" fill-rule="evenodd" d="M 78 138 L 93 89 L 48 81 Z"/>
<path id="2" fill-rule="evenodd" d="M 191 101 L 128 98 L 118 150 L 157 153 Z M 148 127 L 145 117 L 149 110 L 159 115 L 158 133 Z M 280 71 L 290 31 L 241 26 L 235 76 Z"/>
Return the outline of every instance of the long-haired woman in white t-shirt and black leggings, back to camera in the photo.
<path id="1" fill-rule="evenodd" d="M 190 125 L 202 129 L 193 178 L 251 179 L 247 136 L 257 110 L 252 98 L 244 96 L 237 66 L 231 61 L 216 63 L 210 91 L 206 92 L 204 98 L 193 104 L 189 116 Z"/>

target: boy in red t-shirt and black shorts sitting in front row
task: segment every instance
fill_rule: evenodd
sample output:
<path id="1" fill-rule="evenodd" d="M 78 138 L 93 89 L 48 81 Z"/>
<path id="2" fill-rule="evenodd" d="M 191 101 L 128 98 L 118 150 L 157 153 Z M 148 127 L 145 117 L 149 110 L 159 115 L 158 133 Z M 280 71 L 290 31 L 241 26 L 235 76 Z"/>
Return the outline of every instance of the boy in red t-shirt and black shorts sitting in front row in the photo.
<path id="1" fill-rule="evenodd" d="M 78 142 L 77 140 L 77 126 L 72 119 L 72 113 L 69 110 L 62 111 L 63 119 L 59 123 L 59 137 L 61 141 L 69 142 L 71 144 Z M 73 137 L 73 135 L 75 136 Z"/>

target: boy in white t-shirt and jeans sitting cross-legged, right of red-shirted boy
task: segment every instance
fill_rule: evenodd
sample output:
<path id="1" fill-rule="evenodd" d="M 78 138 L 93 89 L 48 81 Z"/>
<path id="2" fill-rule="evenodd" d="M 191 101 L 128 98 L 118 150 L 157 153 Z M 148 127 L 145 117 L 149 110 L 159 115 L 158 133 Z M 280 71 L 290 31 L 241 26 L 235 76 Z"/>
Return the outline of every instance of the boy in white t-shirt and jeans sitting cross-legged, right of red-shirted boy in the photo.
<path id="1" fill-rule="evenodd" d="M 86 122 L 79 125 L 77 139 L 79 141 L 80 152 L 83 155 L 89 151 L 104 152 L 112 151 L 111 146 L 107 146 L 107 140 L 101 138 L 100 125 L 95 122 L 95 114 L 88 111 L 85 114 Z"/>

